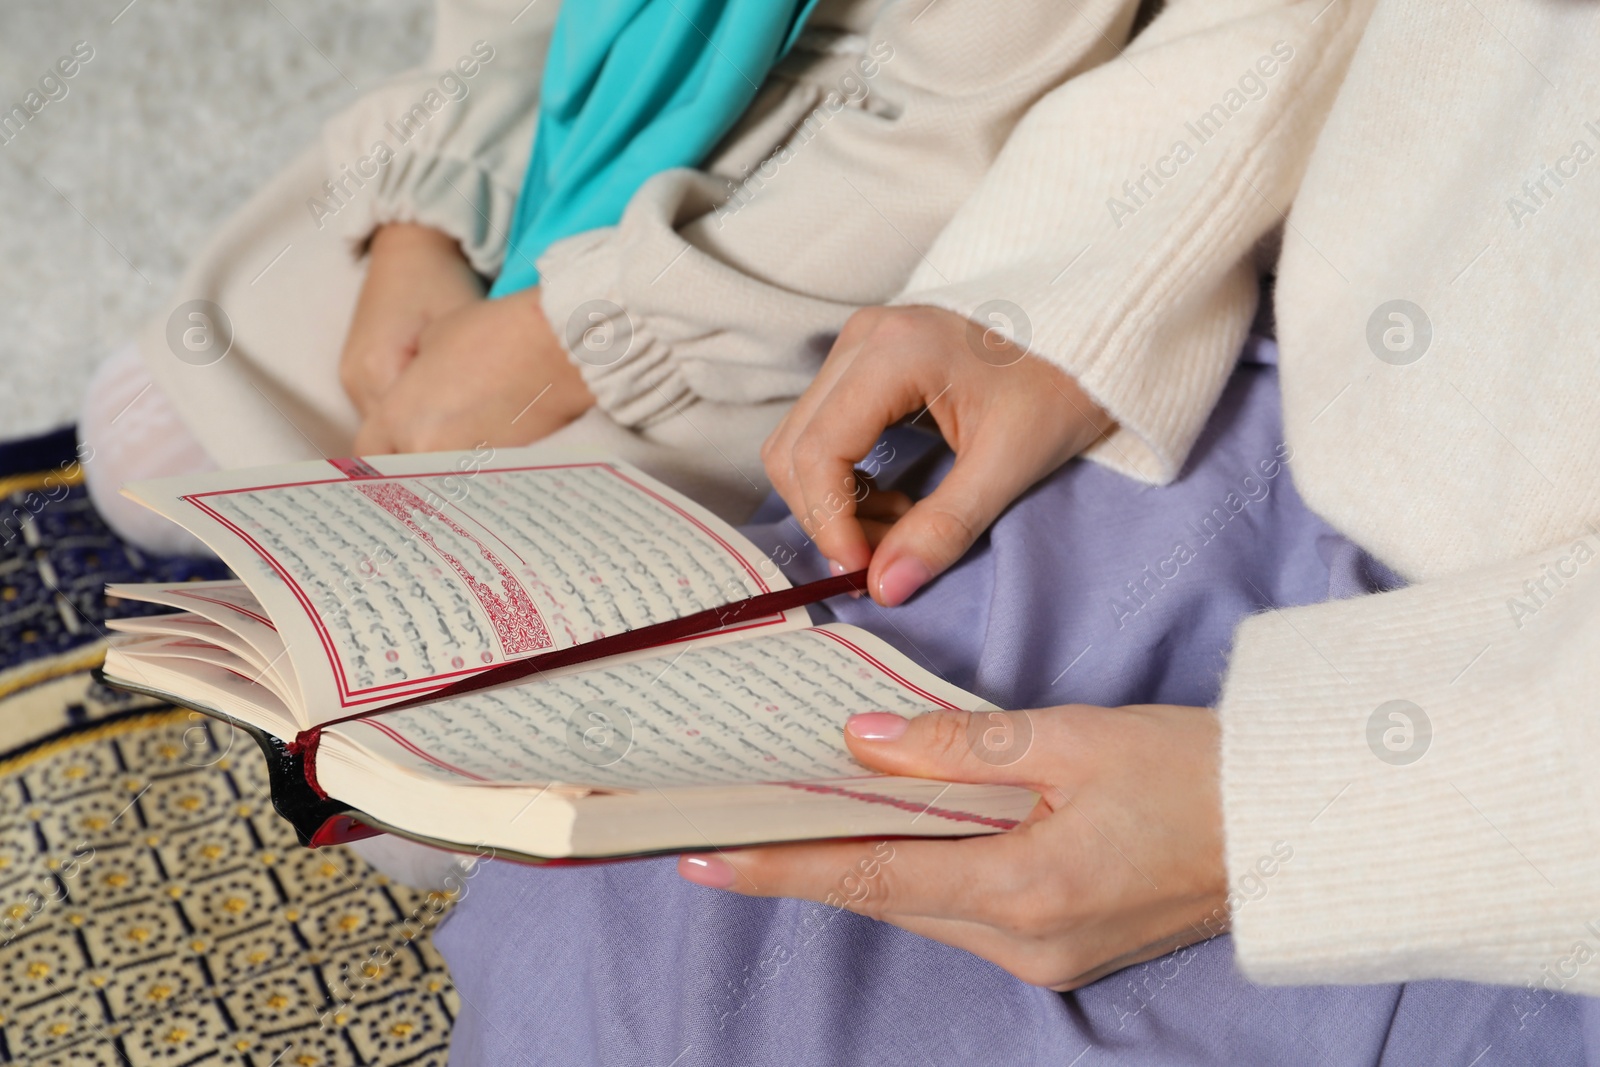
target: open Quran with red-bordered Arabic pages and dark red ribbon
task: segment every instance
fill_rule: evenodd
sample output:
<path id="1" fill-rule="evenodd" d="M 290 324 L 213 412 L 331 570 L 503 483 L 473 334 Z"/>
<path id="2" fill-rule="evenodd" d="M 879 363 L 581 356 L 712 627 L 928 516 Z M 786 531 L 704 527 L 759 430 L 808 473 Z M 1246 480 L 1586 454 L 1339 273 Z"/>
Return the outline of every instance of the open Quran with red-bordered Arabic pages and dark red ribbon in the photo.
<path id="1" fill-rule="evenodd" d="M 379 456 L 128 496 L 237 581 L 112 585 L 109 685 L 245 731 L 307 845 L 392 832 L 526 861 L 1005 830 L 1034 793 L 867 773 L 856 712 L 992 705 L 805 603 L 622 462 Z M 858 579 L 859 581 L 859 579 Z M 224 729 L 224 733 L 226 733 Z"/>

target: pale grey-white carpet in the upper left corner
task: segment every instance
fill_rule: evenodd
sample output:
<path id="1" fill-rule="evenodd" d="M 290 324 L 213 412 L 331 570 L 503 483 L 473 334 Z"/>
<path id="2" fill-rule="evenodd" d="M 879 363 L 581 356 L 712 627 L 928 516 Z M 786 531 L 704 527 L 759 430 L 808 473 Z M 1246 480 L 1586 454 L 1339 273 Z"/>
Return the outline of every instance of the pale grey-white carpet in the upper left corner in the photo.
<path id="1" fill-rule="evenodd" d="M 430 22 L 427 0 L 0 0 L 0 112 L 94 50 L 0 144 L 0 438 L 74 421 L 189 250 Z"/>

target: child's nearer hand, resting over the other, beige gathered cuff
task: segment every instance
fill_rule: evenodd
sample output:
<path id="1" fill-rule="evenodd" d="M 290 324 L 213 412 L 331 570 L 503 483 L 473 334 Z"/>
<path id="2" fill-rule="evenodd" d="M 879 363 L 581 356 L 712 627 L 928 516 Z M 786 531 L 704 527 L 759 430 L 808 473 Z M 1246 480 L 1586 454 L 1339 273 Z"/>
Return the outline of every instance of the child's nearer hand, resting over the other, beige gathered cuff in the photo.
<path id="1" fill-rule="evenodd" d="M 355 435 L 362 456 L 528 445 L 594 405 L 539 291 L 472 301 L 422 330 L 416 358 Z"/>

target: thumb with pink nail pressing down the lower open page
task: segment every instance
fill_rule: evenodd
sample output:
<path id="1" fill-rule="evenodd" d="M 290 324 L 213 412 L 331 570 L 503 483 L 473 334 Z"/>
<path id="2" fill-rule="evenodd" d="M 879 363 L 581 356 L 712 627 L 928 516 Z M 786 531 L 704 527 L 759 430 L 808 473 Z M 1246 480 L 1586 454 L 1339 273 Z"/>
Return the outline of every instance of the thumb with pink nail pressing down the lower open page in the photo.
<path id="1" fill-rule="evenodd" d="M 882 774 L 944 782 L 1024 784 L 1035 777 L 1034 717 L 1029 712 L 894 712 L 851 715 L 851 755 Z"/>

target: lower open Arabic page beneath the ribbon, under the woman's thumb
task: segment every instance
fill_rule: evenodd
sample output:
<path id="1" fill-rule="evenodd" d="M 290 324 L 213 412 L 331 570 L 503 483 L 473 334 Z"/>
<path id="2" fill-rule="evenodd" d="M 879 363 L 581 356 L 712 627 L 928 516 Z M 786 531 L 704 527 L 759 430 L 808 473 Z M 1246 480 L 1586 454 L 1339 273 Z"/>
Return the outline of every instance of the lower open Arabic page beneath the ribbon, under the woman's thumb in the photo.
<path id="1" fill-rule="evenodd" d="M 837 779 L 866 774 L 842 734 L 853 713 L 939 707 L 994 705 L 870 633 L 830 624 L 651 649 L 341 723 L 323 733 L 322 752 L 344 741 L 414 774 L 488 784 Z"/>

